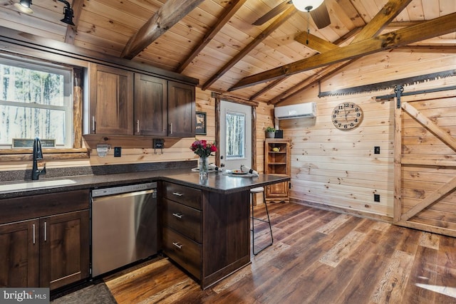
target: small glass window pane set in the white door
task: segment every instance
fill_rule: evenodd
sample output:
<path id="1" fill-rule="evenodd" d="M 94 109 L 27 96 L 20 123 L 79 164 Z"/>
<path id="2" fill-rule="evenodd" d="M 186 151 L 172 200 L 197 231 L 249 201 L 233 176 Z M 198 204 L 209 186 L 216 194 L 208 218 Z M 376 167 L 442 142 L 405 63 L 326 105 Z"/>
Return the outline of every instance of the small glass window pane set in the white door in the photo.
<path id="1" fill-rule="evenodd" d="M 227 158 L 245 157 L 245 115 L 227 112 Z"/>

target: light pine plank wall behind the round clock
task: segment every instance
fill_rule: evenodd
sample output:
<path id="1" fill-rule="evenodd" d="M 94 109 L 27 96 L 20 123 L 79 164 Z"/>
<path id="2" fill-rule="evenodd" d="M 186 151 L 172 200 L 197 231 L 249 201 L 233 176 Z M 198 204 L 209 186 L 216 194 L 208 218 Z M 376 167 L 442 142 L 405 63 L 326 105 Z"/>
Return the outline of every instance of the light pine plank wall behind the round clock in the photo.
<path id="1" fill-rule="evenodd" d="M 351 88 L 456 68 L 456 56 L 435 48 L 404 48 L 366 56 L 321 82 L 321 91 Z M 405 92 L 456 85 L 456 76 L 405 87 Z M 315 86 L 285 104 L 316 101 L 314 119 L 282 120 L 284 137 L 292 140 L 292 201 L 348 211 L 392 221 L 393 107 L 371 93 L 318 98 Z M 361 105 L 364 120 L 351 131 L 337 130 L 331 112 L 343 102 Z M 380 154 L 374 154 L 374 147 Z M 380 194 L 375 202 L 373 194 Z"/>

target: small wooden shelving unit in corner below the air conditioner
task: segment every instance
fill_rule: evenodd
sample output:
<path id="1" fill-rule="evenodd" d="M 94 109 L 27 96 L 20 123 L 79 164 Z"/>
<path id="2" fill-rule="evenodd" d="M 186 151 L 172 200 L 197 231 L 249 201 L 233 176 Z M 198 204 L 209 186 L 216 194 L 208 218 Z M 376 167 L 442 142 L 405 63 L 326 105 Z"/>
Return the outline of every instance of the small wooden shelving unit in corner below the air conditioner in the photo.
<path id="1" fill-rule="evenodd" d="M 290 176 L 290 140 L 288 138 L 264 141 L 264 173 Z M 266 186 L 266 201 L 288 202 L 289 182 Z"/>

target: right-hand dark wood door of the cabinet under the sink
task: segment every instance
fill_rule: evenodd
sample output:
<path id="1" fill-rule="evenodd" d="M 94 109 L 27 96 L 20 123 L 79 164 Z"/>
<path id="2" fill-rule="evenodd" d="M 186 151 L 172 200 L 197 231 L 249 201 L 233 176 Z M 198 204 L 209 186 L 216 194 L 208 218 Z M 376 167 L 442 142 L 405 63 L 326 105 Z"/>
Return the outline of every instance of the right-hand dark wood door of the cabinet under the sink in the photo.
<path id="1" fill-rule="evenodd" d="M 40 219 L 40 285 L 51 290 L 89 276 L 89 211 Z"/>

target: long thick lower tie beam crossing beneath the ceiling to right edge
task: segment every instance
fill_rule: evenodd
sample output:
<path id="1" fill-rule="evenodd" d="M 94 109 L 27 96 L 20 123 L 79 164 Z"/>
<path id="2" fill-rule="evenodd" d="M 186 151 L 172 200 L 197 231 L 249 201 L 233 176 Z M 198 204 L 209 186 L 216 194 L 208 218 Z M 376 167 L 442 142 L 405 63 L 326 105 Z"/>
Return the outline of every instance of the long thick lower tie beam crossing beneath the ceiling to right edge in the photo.
<path id="1" fill-rule="evenodd" d="M 296 73 L 304 72 L 305 70 L 312 70 L 324 65 L 359 58 L 361 56 L 378 53 L 399 46 L 406 46 L 410 43 L 442 36 L 454 31 L 456 31 L 456 13 L 448 14 L 430 21 L 424 21 L 415 26 L 400 28 L 397 31 L 385 33 L 374 38 L 368 38 L 364 41 L 352 43 L 333 51 L 317 54 L 310 58 L 304 58 L 301 61 L 266 70 L 263 73 L 243 78 L 229 90 L 247 88 L 251 85 L 281 78 L 284 75 L 294 75 Z"/>

